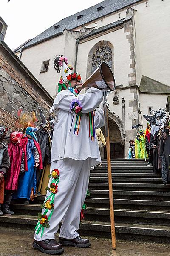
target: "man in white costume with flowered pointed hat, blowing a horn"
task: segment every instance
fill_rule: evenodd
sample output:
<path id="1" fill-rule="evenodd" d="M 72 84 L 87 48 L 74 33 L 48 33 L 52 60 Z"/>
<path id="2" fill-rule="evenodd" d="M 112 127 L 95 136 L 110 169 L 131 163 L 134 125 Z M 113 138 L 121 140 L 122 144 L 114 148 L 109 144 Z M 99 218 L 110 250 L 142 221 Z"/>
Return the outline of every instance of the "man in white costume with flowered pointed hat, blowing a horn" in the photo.
<path id="1" fill-rule="evenodd" d="M 67 64 L 67 58 L 56 56 L 54 68 L 58 73 L 61 68 L 62 76 L 59 93 L 51 108 L 56 114 L 51 177 L 33 243 L 34 248 L 48 254 L 62 253 L 62 245 L 82 248 L 91 245 L 77 230 L 90 168 L 101 163 L 95 129 L 105 125 L 103 108 L 106 102 L 102 102 L 102 91 L 92 87 L 79 94 L 81 76 L 73 73 Z M 108 107 L 108 102 L 106 105 Z M 58 243 L 55 233 L 61 221 Z"/>

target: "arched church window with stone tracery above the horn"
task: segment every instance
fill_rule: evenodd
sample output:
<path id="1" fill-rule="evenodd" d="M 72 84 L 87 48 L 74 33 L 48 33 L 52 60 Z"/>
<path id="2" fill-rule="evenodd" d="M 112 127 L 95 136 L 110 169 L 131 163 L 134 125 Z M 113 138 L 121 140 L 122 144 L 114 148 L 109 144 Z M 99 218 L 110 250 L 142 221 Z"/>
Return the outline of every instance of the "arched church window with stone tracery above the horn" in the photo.
<path id="1" fill-rule="evenodd" d="M 102 45 L 94 52 L 92 58 L 92 73 L 105 61 L 112 69 L 112 49 L 108 45 Z"/>

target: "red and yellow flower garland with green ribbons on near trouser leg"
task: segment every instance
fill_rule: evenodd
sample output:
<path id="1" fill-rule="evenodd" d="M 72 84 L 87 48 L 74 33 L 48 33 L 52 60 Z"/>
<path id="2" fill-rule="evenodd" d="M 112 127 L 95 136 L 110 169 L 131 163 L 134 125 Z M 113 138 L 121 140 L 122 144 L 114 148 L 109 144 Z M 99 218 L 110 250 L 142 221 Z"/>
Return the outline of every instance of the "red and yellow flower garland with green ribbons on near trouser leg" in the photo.
<path id="1" fill-rule="evenodd" d="M 45 212 L 43 214 L 38 213 L 39 221 L 37 223 L 37 226 L 35 227 L 35 230 L 37 230 L 36 234 L 39 234 L 41 230 L 41 237 L 43 236 L 44 228 L 50 227 L 48 222 L 50 221 L 54 211 L 54 198 L 55 198 L 55 194 L 58 192 L 59 170 L 58 169 L 52 170 L 52 173 L 48 175 L 48 177 L 53 178 L 51 181 L 50 187 L 46 188 L 46 190 L 50 191 L 51 194 L 46 198 L 44 203 L 41 205 L 42 209 L 45 208 Z M 50 215 L 47 217 L 46 214 L 48 213 L 48 211 L 51 211 L 51 212 L 50 212 Z"/>

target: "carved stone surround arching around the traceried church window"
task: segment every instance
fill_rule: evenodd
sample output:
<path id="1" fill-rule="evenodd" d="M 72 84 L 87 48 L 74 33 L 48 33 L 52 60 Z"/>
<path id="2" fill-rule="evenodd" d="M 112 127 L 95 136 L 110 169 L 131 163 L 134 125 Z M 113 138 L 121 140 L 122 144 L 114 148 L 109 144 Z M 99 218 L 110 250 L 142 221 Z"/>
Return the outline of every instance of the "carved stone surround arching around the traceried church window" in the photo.
<path id="1" fill-rule="evenodd" d="M 92 73 L 92 61 L 94 59 L 94 54 L 97 51 L 97 49 L 101 49 L 101 47 L 106 48 L 108 46 L 109 49 L 111 49 L 111 52 L 109 52 L 109 54 L 111 54 L 112 58 L 111 58 L 111 70 L 113 72 L 114 67 L 113 67 L 113 44 L 110 41 L 106 41 L 106 40 L 101 40 L 98 43 L 96 43 L 90 50 L 89 54 L 88 54 L 88 61 L 87 61 L 87 70 L 86 70 L 86 80 L 91 76 Z"/>

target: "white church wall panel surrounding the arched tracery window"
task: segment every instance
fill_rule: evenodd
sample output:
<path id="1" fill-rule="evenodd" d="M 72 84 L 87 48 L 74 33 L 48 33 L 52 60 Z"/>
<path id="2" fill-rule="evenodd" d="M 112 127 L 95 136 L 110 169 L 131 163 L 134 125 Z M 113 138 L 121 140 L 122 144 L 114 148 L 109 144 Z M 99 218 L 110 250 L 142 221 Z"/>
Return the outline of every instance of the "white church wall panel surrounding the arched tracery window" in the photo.
<path id="1" fill-rule="evenodd" d="M 91 40 L 89 38 L 87 41 L 80 43 L 78 48 L 77 71 L 81 73 L 82 78 L 85 80 L 88 53 L 101 40 L 110 41 L 113 44 L 113 73 L 116 79 L 116 85 L 123 84 L 123 86 L 127 86 L 128 81 L 130 81 L 128 74 L 131 72 L 130 49 L 124 28 Z"/>

